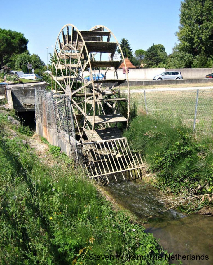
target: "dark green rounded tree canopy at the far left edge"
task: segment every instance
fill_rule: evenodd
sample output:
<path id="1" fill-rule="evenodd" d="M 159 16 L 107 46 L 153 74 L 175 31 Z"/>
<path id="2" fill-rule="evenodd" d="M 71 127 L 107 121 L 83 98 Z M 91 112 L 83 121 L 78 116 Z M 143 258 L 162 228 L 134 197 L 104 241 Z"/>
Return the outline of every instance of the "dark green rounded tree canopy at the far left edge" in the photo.
<path id="1" fill-rule="evenodd" d="M 0 28 L 0 66 L 11 62 L 15 55 L 26 52 L 27 43 L 24 34 Z"/>

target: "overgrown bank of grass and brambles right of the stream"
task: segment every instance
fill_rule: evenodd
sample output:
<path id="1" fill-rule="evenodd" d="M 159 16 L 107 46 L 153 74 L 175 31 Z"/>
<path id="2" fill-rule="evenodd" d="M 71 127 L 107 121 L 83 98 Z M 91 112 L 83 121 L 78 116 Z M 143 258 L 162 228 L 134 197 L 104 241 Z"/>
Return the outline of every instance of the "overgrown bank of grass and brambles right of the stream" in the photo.
<path id="1" fill-rule="evenodd" d="M 125 136 L 145 156 L 155 185 L 174 193 L 176 200 L 165 200 L 184 211 L 212 207 L 213 143 L 199 138 L 178 117 L 156 118 L 142 115 L 130 124 Z"/>

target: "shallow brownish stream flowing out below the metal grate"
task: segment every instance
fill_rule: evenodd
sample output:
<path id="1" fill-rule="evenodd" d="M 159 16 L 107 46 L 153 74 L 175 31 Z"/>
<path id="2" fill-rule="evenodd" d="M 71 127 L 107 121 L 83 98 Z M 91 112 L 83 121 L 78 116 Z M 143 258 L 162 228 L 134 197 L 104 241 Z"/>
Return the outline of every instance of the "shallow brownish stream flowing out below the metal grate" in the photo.
<path id="1" fill-rule="evenodd" d="M 159 191 L 141 180 L 110 181 L 104 189 L 142 222 L 147 221 L 144 225 L 147 232 L 159 238 L 169 253 L 181 256 L 182 264 L 213 265 L 212 216 L 185 216 L 181 212 L 167 210 L 158 200 Z M 179 261 L 175 259 L 171 263 L 179 264 Z"/>

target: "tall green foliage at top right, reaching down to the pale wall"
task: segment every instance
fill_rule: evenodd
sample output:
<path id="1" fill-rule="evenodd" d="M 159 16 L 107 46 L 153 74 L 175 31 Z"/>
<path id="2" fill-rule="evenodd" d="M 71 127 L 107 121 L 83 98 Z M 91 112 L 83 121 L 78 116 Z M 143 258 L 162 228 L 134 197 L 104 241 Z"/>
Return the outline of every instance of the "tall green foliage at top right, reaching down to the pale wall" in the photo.
<path id="1" fill-rule="evenodd" d="M 184 0 L 180 12 L 180 26 L 176 32 L 179 44 L 174 47 L 168 66 L 212 67 L 212 0 Z"/>

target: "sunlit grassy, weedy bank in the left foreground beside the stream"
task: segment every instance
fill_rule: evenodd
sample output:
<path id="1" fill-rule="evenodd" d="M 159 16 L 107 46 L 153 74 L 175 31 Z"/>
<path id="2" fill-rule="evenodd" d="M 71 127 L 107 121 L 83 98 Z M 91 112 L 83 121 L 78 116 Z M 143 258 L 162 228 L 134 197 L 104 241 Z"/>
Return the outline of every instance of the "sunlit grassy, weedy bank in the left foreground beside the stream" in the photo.
<path id="1" fill-rule="evenodd" d="M 1 264 L 168 264 L 155 238 L 114 212 L 81 165 L 58 148 L 39 156 L 7 116 L 0 114 Z"/>

